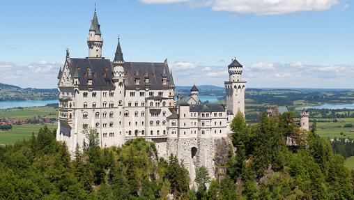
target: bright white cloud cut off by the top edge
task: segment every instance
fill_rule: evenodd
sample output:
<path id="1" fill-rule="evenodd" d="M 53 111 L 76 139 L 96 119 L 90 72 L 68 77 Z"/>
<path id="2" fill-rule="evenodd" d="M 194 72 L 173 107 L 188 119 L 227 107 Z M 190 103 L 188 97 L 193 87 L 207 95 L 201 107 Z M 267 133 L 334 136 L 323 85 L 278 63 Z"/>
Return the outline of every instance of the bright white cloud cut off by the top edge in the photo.
<path id="1" fill-rule="evenodd" d="M 143 3 L 186 3 L 191 8 L 209 6 L 211 10 L 256 15 L 282 15 L 302 11 L 328 10 L 339 0 L 141 0 Z M 237 15 L 236 15 L 237 16 Z M 236 17 L 236 19 L 238 19 Z"/>

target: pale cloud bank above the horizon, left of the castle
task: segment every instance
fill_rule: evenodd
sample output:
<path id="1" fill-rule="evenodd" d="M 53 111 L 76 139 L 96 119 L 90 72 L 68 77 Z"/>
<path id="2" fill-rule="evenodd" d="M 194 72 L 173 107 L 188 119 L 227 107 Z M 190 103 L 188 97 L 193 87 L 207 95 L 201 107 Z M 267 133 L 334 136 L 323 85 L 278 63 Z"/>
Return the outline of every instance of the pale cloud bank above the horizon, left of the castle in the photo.
<path id="1" fill-rule="evenodd" d="M 36 61 L 25 65 L 1 62 L 0 82 L 21 87 L 56 88 L 56 75 L 63 62 Z"/>

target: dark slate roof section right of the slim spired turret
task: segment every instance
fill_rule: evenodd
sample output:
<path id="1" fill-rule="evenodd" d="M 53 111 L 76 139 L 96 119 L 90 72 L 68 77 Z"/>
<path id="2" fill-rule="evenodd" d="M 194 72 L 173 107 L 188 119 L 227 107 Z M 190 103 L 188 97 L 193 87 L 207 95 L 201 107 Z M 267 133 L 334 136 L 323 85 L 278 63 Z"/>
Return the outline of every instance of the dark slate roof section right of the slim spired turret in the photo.
<path id="1" fill-rule="evenodd" d="M 145 86 L 145 76 L 149 78 L 150 86 L 162 86 L 162 73 L 164 72 L 164 68 L 167 73 L 167 79 L 171 79 L 169 66 L 165 63 L 125 62 L 125 86 L 135 86 L 135 79 L 140 79 L 140 86 Z M 169 84 L 171 84 L 171 82 Z"/>

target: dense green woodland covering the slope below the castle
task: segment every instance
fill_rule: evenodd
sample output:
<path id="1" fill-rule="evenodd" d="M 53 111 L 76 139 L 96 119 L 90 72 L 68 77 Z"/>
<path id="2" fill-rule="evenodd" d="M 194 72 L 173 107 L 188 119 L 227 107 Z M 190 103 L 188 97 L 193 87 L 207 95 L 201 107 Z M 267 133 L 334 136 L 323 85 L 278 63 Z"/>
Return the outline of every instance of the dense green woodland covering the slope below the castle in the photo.
<path id="1" fill-rule="evenodd" d="M 233 146 L 226 175 L 212 180 L 197 170 L 196 186 L 174 155 L 159 159 L 144 139 L 121 148 L 99 148 L 95 130 L 86 130 L 83 152 L 73 159 L 55 131 L 0 147 L 0 199 L 354 199 L 354 171 L 315 128 L 302 134 L 286 112 L 247 125 L 233 119 Z M 286 137 L 297 146 L 286 146 Z M 207 189 L 208 188 L 208 189 Z"/>

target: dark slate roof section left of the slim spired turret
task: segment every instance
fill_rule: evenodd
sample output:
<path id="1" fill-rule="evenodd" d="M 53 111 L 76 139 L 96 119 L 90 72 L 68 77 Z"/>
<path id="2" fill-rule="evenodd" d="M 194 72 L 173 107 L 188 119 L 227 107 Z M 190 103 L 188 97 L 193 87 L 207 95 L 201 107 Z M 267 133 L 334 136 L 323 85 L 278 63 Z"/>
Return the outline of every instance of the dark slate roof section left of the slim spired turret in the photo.
<path id="1" fill-rule="evenodd" d="M 114 87 L 109 59 L 72 59 L 68 61 L 71 74 L 77 72 L 80 80 L 79 86 L 87 86 L 87 80 L 91 71 L 93 87 Z M 76 71 L 76 72 L 75 72 Z"/>

